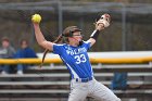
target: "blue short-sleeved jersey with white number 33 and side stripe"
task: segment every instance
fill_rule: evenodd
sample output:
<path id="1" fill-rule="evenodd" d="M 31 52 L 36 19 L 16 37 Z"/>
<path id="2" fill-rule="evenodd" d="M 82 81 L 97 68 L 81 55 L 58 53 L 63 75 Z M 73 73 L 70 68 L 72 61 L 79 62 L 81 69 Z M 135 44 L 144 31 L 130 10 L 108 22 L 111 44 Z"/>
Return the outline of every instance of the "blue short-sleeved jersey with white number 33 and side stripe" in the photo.
<path id="1" fill-rule="evenodd" d="M 87 51 L 90 42 L 85 41 L 81 46 L 53 45 L 53 53 L 59 54 L 71 73 L 72 78 L 92 77 L 93 72 Z"/>

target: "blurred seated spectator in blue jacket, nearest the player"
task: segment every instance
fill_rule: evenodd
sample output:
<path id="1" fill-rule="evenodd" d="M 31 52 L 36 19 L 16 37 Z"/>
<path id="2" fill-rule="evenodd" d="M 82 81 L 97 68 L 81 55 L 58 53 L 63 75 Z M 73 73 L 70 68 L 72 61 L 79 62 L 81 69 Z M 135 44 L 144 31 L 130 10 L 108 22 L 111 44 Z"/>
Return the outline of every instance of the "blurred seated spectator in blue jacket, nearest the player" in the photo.
<path id="1" fill-rule="evenodd" d="M 15 59 L 28 59 L 28 58 L 37 58 L 37 54 L 33 49 L 29 48 L 28 41 L 23 39 L 21 41 L 21 49 L 14 55 Z M 23 70 L 27 68 L 30 64 L 17 64 L 17 74 L 23 75 Z"/>

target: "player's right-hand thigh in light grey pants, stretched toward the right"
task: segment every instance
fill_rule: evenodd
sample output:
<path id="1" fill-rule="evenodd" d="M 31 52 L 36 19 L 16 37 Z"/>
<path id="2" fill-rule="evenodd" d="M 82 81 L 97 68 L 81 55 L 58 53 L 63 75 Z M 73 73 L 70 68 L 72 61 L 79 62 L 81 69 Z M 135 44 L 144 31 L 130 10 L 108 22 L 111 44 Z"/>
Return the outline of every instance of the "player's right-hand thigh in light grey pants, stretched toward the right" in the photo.
<path id="1" fill-rule="evenodd" d="M 121 101 L 119 98 L 117 98 L 112 90 L 110 90 L 107 87 L 100 83 L 96 83 L 93 87 L 93 93 L 92 97 L 97 99 L 98 101 Z"/>

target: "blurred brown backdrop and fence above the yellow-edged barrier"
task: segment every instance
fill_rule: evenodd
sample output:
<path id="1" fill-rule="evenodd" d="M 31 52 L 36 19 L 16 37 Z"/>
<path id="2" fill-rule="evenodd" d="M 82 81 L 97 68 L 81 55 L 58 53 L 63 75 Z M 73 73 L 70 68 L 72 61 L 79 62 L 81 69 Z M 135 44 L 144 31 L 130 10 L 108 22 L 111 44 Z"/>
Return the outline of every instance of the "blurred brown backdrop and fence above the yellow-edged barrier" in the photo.
<path id="1" fill-rule="evenodd" d="M 0 38 L 11 38 L 13 47 L 27 38 L 37 51 L 30 17 L 42 16 L 41 30 L 47 40 L 54 40 L 71 25 L 83 29 L 88 39 L 96 18 L 104 13 L 112 17 L 111 26 L 103 30 L 90 51 L 142 51 L 152 49 L 151 0 L 1 0 Z"/>

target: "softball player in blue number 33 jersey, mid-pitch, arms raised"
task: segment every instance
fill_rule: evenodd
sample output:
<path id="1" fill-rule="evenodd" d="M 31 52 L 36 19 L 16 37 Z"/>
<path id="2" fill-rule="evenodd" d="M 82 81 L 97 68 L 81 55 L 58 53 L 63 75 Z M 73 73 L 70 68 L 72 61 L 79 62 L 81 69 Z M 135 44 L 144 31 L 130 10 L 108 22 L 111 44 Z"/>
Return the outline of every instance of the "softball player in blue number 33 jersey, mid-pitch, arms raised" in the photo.
<path id="1" fill-rule="evenodd" d="M 83 40 L 81 29 L 77 26 L 65 28 L 58 41 L 64 37 L 66 43 L 60 45 L 47 41 L 40 30 L 39 23 L 33 22 L 33 24 L 37 42 L 59 54 L 69 71 L 72 80 L 68 101 L 84 101 L 86 97 L 92 97 L 99 101 L 121 101 L 107 87 L 96 80 L 87 53 L 94 45 L 100 30 L 110 25 L 110 15 L 105 15 L 105 20 L 96 22 L 96 29 L 87 41 Z"/>

